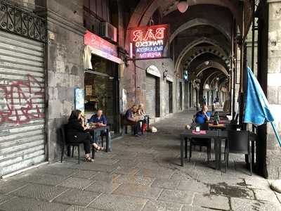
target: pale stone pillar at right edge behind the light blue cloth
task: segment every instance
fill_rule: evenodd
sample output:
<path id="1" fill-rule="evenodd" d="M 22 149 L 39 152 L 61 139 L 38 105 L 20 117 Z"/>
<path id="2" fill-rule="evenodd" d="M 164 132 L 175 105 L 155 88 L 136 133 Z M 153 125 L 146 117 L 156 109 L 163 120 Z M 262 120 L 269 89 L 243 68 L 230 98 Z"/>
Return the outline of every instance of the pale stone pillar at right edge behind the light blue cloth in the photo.
<path id="1" fill-rule="evenodd" d="M 281 132 L 281 1 L 268 0 L 267 96 Z M 267 125 L 266 166 L 270 179 L 281 179 L 281 148 L 270 124 Z"/>

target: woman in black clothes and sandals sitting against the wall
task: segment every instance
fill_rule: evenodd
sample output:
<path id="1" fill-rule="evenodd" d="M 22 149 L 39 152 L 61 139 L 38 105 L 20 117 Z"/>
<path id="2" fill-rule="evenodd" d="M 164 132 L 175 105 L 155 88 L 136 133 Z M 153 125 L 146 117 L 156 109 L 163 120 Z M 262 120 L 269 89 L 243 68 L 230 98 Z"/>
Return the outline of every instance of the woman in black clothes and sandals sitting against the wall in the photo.
<path id="1" fill-rule="evenodd" d="M 93 162 L 90 156 L 91 135 L 86 132 L 86 127 L 84 127 L 84 120 L 81 117 L 81 110 L 72 110 L 65 129 L 67 141 L 69 141 L 70 143 L 83 143 L 85 151 L 84 161 Z M 97 150 L 102 149 L 96 143 L 93 143 L 93 147 Z"/>

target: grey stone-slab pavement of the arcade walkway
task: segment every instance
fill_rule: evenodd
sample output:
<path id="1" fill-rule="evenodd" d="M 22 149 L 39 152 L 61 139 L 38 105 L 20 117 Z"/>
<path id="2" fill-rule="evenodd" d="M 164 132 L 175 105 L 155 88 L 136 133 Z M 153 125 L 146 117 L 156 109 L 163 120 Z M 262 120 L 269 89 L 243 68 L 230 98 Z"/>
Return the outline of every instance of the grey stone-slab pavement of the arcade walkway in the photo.
<path id="1" fill-rule="evenodd" d="M 65 158 L 2 180 L 0 210 L 281 210 L 281 196 L 249 176 L 243 156 L 230 155 L 227 174 L 207 165 L 205 149 L 180 166 L 179 134 L 191 115 L 158 122 L 155 134 L 115 140 L 93 163 Z"/>

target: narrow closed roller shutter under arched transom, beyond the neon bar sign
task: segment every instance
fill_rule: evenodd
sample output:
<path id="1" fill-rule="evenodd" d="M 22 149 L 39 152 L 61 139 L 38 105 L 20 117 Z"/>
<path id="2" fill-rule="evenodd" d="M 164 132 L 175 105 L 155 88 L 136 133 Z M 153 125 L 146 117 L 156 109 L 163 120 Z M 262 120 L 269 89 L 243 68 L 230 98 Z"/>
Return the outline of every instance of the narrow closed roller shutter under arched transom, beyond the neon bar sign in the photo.
<path id="1" fill-rule="evenodd" d="M 156 77 L 146 75 L 146 113 L 150 117 L 155 117 L 156 114 Z"/>

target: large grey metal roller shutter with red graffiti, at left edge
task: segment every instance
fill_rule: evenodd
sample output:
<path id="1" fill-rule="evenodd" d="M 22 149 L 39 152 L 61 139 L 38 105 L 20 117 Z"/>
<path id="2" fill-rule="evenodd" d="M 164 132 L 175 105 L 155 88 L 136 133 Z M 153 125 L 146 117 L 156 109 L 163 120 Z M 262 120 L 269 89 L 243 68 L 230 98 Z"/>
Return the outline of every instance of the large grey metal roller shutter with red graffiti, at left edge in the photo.
<path id="1" fill-rule="evenodd" d="M 44 44 L 0 31 L 0 176 L 46 160 Z"/>

